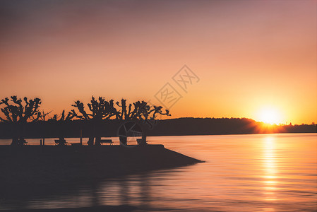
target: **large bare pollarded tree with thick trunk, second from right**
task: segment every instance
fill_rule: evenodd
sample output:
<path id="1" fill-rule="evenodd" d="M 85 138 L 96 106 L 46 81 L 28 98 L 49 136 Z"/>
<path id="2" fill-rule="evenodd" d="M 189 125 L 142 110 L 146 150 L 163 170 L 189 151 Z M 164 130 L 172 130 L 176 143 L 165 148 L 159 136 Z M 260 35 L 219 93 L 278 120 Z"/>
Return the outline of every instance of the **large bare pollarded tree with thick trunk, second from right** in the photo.
<path id="1" fill-rule="evenodd" d="M 116 108 L 114 107 L 114 100 L 110 100 L 109 102 L 104 100 L 103 97 L 99 97 L 98 100 L 92 96 L 90 103 L 87 104 L 89 111 L 85 110 L 85 106 L 83 102 L 77 100 L 73 107 L 76 107 L 78 112 L 75 110 L 71 110 L 74 117 L 78 119 L 83 119 L 92 124 L 92 131 L 90 132 L 88 145 L 100 146 L 100 129 L 97 129 L 97 126 L 100 126 L 102 120 L 110 119 L 111 117 L 118 115 L 116 112 Z"/>

